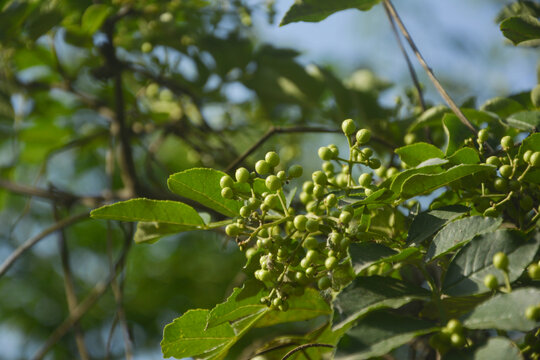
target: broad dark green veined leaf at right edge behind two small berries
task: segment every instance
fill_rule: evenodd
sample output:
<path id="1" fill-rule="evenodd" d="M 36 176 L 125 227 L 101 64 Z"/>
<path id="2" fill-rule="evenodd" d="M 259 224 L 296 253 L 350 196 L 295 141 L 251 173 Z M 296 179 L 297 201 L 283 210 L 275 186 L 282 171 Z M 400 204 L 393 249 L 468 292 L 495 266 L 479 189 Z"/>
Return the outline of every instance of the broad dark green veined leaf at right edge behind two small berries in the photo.
<path id="1" fill-rule="evenodd" d="M 508 277 L 516 280 L 534 259 L 540 246 L 540 234 L 526 241 L 517 231 L 498 230 L 480 235 L 465 245 L 454 257 L 443 281 L 443 292 L 452 296 L 473 295 L 489 291 L 484 277 L 493 274 L 504 281 L 502 271 L 493 266 L 493 255 L 499 251 L 508 256 Z"/>

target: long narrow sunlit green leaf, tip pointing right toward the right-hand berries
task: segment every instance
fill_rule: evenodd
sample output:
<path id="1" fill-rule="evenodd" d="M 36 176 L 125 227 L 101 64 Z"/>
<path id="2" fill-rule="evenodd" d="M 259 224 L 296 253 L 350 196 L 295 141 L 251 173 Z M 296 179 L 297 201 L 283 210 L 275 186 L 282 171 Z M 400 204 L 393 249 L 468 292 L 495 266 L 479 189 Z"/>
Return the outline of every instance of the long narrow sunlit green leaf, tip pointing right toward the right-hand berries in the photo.
<path id="1" fill-rule="evenodd" d="M 448 185 L 452 181 L 456 181 L 467 175 L 490 170 L 495 170 L 495 166 L 487 164 L 462 164 L 451 167 L 440 174 L 413 175 L 403 183 L 401 193 L 408 197 L 430 193 L 441 186 Z"/>

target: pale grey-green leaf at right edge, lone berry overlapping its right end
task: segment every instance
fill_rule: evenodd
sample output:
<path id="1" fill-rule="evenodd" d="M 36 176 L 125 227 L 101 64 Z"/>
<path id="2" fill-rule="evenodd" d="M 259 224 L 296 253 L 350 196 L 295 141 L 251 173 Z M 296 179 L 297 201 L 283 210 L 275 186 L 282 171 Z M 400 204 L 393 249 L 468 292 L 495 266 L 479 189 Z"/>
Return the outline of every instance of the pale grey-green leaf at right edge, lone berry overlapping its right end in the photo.
<path id="1" fill-rule="evenodd" d="M 528 319 L 525 310 L 538 305 L 540 289 L 521 288 L 508 294 L 497 294 L 478 305 L 463 325 L 469 329 L 498 329 L 530 331 L 538 322 Z"/>

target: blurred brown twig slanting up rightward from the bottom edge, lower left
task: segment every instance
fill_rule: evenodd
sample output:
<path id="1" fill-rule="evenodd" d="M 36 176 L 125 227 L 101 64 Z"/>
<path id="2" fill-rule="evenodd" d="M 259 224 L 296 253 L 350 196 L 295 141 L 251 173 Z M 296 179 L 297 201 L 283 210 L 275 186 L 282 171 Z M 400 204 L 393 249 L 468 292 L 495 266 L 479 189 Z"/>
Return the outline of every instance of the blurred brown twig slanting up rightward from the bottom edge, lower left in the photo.
<path id="1" fill-rule="evenodd" d="M 116 278 L 118 273 L 123 269 L 124 262 L 127 256 L 127 253 L 131 246 L 131 240 L 127 240 L 122 249 L 122 253 L 118 258 L 115 266 L 114 272 L 109 275 L 109 277 L 102 281 L 94 287 L 90 295 L 88 295 L 71 313 L 71 315 L 64 320 L 64 322 L 58 326 L 53 333 L 49 336 L 45 344 L 37 351 L 37 353 L 32 357 L 33 360 L 41 360 L 47 354 L 47 352 L 54 346 L 64 335 L 90 310 L 99 298 L 105 294 L 112 281 Z"/>

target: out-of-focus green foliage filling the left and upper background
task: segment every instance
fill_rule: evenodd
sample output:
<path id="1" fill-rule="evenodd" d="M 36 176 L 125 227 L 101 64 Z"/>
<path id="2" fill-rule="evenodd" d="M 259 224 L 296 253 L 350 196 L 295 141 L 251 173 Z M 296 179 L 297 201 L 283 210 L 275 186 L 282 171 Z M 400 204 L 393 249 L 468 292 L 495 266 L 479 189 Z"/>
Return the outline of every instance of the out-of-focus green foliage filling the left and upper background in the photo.
<path id="1" fill-rule="evenodd" d="M 330 56 L 316 65 L 303 44 L 272 44 L 283 3 L 0 0 L 0 261 L 39 240 L 0 272 L 0 359 L 31 358 L 44 344 L 50 359 L 161 358 L 165 324 L 242 280 L 243 255 L 219 233 L 131 246 L 131 225 L 89 220 L 89 210 L 174 199 L 170 174 L 227 171 L 269 149 L 306 163 L 332 137 L 320 133 L 345 118 L 371 128 L 376 149 L 403 145 L 421 111 L 408 75 L 389 92 L 358 70 L 366 64 Z M 395 43 L 386 48 L 400 56 Z M 407 74 L 400 61 L 390 78 Z M 452 85 L 465 98 L 467 86 Z M 81 320 L 62 328 L 88 299 Z"/>

